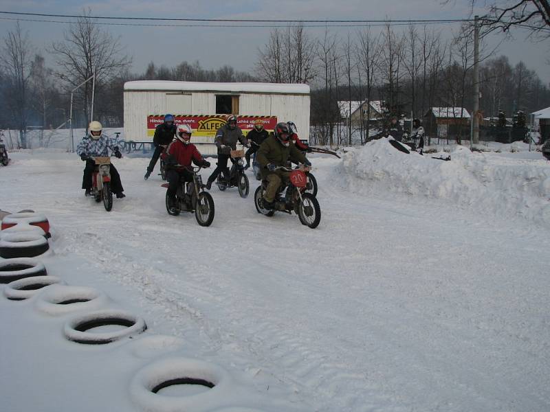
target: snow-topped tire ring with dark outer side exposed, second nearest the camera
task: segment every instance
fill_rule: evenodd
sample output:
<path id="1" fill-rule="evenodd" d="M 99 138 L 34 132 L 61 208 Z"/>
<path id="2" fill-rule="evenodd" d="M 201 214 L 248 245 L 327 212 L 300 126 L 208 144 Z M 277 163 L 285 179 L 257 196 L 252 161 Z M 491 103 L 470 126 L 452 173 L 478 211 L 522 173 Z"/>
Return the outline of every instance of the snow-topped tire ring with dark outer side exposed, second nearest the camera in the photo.
<path id="1" fill-rule="evenodd" d="M 89 330 L 106 325 L 119 325 L 124 329 L 109 332 L 89 332 Z M 65 337 L 69 341 L 87 345 L 104 345 L 120 339 L 140 334 L 147 329 L 141 317 L 122 310 L 101 310 L 74 317 L 65 323 Z"/>

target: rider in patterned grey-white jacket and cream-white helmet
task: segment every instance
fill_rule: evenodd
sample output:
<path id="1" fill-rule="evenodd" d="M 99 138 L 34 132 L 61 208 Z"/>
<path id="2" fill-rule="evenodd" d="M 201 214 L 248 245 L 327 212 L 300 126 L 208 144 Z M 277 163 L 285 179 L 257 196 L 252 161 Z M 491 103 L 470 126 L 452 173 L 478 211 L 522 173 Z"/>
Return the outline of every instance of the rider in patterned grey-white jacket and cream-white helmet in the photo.
<path id="1" fill-rule="evenodd" d="M 103 126 L 100 122 L 94 120 L 90 122 L 88 126 L 88 135 L 85 136 L 82 141 L 76 147 L 76 154 L 80 156 L 82 161 L 86 162 L 84 168 L 84 176 L 82 180 L 82 188 L 86 190 L 85 196 L 89 196 L 91 192 L 91 176 L 94 174 L 96 168 L 96 162 L 90 157 L 109 157 L 109 149 L 115 152 L 115 157 L 120 159 L 122 153 L 118 146 L 113 146 L 111 139 L 103 135 Z M 115 168 L 115 165 L 111 163 L 111 190 L 116 194 L 117 198 L 126 197 L 124 189 L 122 188 L 122 182 L 120 181 L 120 175 Z"/>

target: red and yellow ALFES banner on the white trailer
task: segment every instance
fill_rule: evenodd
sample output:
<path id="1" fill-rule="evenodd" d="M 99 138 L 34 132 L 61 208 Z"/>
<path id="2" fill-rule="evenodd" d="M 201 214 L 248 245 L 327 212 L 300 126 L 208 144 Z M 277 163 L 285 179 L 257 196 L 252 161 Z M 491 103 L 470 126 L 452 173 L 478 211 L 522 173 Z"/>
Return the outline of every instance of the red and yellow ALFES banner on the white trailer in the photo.
<path id="1" fill-rule="evenodd" d="M 193 136 L 197 137 L 214 137 L 216 131 L 225 124 L 225 116 L 217 115 L 174 115 L 175 124 L 188 124 L 193 130 Z M 266 130 L 274 130 L 277 124 L 276 116 L 239 116 L 236 117 L 236 125 L 243 130 L 243 135 L 247 135 L 254 123 L 261 119 L 263 128 Z M 155 135 L 155 128 L 164 122 L 164 115 L 148 115 L 147 116 L 147 136 Z"/>

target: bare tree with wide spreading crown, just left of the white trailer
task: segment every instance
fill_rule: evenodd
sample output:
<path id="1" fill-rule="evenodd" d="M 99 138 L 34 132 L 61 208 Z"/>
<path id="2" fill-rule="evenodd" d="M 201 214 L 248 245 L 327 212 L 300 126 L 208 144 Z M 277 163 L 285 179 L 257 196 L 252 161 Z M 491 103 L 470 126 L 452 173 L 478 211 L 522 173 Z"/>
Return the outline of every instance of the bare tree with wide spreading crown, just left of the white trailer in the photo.
<path id="1" fill-rule="evenodd" d="M 96 88 L 109 82 L 119 71 L 129 66 L 131 59 L 123 53 L 124 47 L 118 38 L 113 38 L 109 32 L 90 17 L 91 10 L 84 12 L 76 23 L 70 25 L 65 32 L 65 41 L 52 44 L 52 53 L 56 63 L 63 73 L 63 80 L 69 89 L 96 73 Z M 83 85 L 82 91 L 77 91 L 83 104 L 85 119 L 89 119 L 91 104 L 91 82 Z"/>

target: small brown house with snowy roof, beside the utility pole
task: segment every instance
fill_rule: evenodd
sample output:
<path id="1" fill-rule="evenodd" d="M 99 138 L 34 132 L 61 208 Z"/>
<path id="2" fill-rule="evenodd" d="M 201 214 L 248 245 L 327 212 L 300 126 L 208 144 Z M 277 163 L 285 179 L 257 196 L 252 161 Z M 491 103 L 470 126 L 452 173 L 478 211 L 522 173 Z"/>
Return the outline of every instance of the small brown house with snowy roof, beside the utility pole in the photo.
<path id="1" fill-rule="evenodd" d="M 430 137 L 466 137 L 470 135 L 470 113 L 463 107 L 432 107 L 423 117 L 423 127 Z"/>

